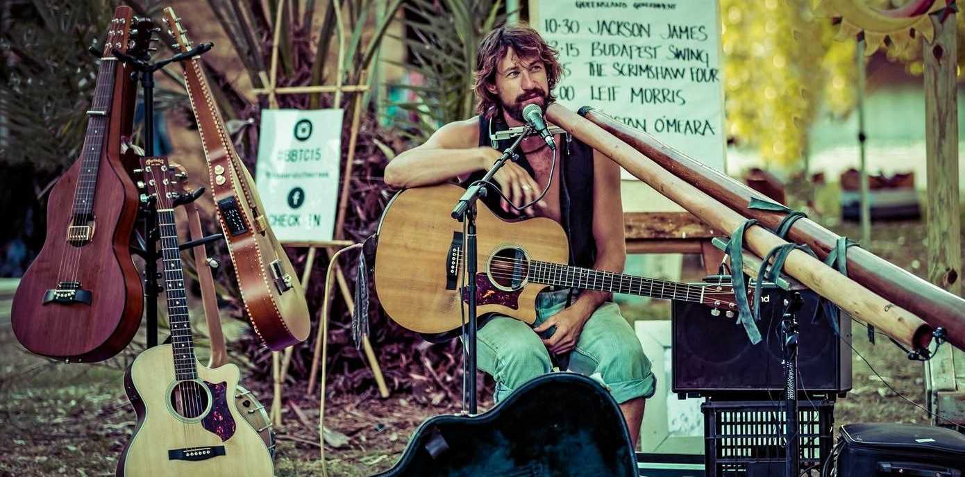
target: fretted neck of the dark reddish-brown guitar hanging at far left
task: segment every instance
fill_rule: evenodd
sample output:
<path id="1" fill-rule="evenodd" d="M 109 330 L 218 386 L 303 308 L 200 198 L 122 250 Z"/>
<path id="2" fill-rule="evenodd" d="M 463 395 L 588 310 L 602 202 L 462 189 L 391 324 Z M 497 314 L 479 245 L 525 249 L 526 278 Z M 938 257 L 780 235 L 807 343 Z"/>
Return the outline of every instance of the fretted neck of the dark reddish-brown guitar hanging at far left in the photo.
<path id="1" fill-rule="evenodd" d="M 91 108 L 87 111 L 87 132 L 80 154 L 80 174 L 73 197 L 73 214 L 90 218 L 94 208 L 94 192 L 97 185 L 97 171 L 100 168 L 100 154 L 103 151 L 104 136 L 110 126 L 111 102 L 114 98 L 114 78 L 117 60 L 101 58 L 97 71 L 97 85 Z"/>

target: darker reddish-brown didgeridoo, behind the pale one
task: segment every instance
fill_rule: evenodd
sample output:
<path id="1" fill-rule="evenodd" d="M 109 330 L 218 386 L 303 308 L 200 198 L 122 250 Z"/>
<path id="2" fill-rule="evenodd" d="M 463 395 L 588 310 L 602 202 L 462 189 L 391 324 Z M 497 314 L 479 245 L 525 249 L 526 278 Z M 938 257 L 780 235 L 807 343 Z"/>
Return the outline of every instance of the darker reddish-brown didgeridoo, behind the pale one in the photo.
<path id="1" fill-rule="evenodd" d="M 693 184 L 741 215 L 755 218 L 771 229 L 784 218 L 785 214 L 780 212 L 747 209 L 751 198 L 771 200 L 747 185 L 667 147 L 648 133 L 625 126 L 598 111 L 590 111 L 585 116 L 677 178 Z M 835 248 L 840 237 L 813 220 L 802 218 L 794 222 L 787 238 L 807 244 L 818 258 L 824 259 Z M 921 317 L 933 327 L 944 327 L 950 343 L 965 349 L 965 299 L 935 287 L 861 247 L 848 249 L 847 271 L 849 277 L 871 292 Z"/>

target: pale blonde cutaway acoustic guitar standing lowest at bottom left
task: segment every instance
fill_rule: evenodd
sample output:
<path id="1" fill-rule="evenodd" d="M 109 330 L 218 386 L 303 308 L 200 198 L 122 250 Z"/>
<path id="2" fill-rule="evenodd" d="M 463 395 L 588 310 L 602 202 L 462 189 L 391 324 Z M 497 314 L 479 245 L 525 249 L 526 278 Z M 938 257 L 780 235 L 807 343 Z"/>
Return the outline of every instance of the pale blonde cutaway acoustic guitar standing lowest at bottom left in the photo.
<path id="1" fill-rule="evenodd" d="M 270 477 L 268 448 L 236 405 L 237 366 L 207 368 L 194 354 L 174 211 L 180 196 L 167 158 L 147 157 L 142 167 L 157 205 L 171 343 L 141 352 L 124 374 L 137 427 L 117 475 Z"/>

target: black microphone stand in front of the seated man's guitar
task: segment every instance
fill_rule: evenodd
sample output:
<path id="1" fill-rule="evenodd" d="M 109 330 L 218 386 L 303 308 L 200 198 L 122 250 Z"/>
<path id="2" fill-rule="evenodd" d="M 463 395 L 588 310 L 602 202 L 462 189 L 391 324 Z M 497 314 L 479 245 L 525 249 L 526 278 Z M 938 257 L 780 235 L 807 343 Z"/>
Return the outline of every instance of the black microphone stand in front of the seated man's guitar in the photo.
<path id="1" fill-rule="evenodd" d="M 532 126 L 526 125 L 523 133 L 516 138 L 516 141 L 503 152 L 503 155 L 499 157 L 492 167 L 486 171 L 483 179 L 473 182 L 466 189 L 466 192 L 462 194 L 458 202 L 455 204 L 452 216 L 455 220 L 462 222 L 466 227 L 465 239 L 465 266 L 466 274 L 469 276 L 469 283 L 466 284 L 462 289 L 463 299 L 469 302 L 469 320 L 462 329 L 463 344 L 466 347 L 468 356 L 463 362 L 463 381 L 462 381 L 462 405 L 463 411 L 469 414 L 477 413 L 477 396 L 476 396 L 476 377 L 478 374 L 476 366 L 476 331 L 477 331 L 477 316 L 476 316 L 476 201 L 480 197 L 485 197 L 486 195 L 486 185 L 499 171 L 500 168 L 506 164 L 506 161 L 516 160 L 519 158 L 519 154 L 516 154 L 516 148 L 519 147 L 519 143 L 523 141 L 526 137 L 532 134 L 534 131 Z M 461 305 L 460 305 L 461 306 Z M 468 404 L 467 404 L 468 403 Z M 468 409 L 466 408 L 468 407 Z"/>

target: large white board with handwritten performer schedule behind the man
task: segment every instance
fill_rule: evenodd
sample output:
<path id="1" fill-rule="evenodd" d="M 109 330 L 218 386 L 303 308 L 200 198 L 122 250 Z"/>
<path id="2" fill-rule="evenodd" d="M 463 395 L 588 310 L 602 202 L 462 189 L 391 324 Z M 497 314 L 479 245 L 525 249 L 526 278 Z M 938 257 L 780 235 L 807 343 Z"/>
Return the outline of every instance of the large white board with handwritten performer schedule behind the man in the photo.
<path id="1" fill-rule="evenodd" d="M 560 103 L 573 111 L 600 109 L 724 170 L 716 0 L 532 0 L 532 6 L 533 26 L 560 51 Z M 632 176 L 624 171 L 626 178 Z"/>

